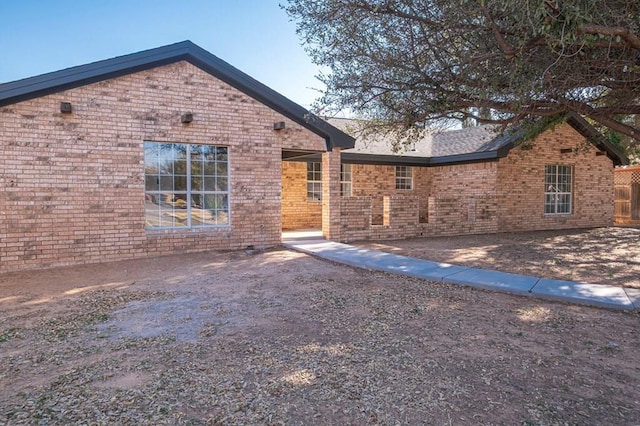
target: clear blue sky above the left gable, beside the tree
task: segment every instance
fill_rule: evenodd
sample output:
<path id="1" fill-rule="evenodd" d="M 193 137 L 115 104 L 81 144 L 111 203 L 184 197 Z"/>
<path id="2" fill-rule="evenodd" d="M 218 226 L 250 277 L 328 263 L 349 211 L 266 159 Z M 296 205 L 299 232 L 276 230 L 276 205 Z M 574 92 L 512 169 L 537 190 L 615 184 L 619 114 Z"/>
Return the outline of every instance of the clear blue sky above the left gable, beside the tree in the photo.
<path id="1" fill-rule="evenodd" d="M 321 89 L 285 0 L 0 0 L 0 82 L 191 40 L 309 108 Z"/>

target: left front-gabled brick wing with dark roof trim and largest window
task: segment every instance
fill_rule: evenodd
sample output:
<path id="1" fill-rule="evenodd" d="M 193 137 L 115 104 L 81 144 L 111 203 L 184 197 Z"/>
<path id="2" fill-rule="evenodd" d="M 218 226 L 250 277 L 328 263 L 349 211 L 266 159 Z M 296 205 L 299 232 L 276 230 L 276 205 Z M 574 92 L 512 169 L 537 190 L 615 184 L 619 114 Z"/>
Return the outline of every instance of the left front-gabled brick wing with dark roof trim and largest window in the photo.
<path id="1" fill-rule="evenodd" d="M 331 218 L 352 146 L 188 41 L 2 84 L 0 272 L 280 244 L 283 158 L 336 170 Z"/>

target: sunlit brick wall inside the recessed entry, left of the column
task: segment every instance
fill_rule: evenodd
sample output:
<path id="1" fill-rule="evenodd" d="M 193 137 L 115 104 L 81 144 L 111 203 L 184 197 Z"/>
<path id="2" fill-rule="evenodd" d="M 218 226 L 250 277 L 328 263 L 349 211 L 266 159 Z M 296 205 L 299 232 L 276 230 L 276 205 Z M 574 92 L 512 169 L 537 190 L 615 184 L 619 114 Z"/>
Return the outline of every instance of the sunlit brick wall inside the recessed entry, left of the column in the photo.
<path id="1" fill-rule="evenodd" d="M 307 163 L 282 162 L 282 229 L 322 227 L 322 203 L 307 201 Z"/>

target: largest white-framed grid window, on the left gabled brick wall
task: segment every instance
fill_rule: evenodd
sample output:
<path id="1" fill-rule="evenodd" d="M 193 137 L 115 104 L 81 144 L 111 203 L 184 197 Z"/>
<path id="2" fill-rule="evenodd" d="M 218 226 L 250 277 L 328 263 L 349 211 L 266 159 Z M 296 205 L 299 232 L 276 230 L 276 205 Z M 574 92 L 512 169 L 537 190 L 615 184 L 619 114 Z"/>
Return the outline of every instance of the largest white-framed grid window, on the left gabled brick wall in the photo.
<path id="1" fill-rule="evenodd" d="M 145 228 L 229 225 L 226 146 L 144 142 Z"/>

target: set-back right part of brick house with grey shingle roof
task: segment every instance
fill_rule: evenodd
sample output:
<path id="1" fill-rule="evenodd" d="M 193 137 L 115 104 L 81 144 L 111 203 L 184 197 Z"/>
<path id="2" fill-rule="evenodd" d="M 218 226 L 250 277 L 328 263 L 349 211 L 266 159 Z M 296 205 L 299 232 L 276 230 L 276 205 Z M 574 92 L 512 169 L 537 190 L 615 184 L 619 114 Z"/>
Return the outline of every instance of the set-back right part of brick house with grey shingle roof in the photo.
<path id="1" fill-rule="evenodd" d="M 285 228 L 320 227 L 321 203 L 312 191 L 322 171 L 318 158 L 283 165 Z M 533 139 L 518 129 L 472 127 L 394 153 L 388 141 L 358 138 L 341 161 L 334 238 L 350 241 L 610 226 L 614 166 L 627 159 L 570 114 Z"/>

